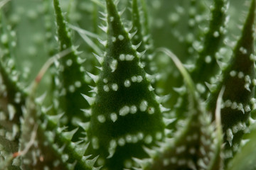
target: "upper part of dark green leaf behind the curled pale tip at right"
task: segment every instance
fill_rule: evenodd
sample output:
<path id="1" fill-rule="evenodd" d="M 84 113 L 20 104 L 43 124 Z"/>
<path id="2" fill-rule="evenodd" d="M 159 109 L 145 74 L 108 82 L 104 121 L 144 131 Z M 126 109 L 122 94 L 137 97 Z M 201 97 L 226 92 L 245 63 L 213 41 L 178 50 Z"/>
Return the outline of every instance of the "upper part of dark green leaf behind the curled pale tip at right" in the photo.
<path id="1" fill-rule="evenodd" d="M 191 72 L 191 77 L 193 77 L 196 84 L 204 84 L 205 81 L 210 81 L 210 77 L 213 77 L 217 70 L 216 52 L 220 49 L 223 35 L 227 31 L 225 28 L 227 11 L 227 0 L 214 1 L 208 32 L 204 35 L 203 49 L 198 52 L 198 60 L 196 60 L 195 68 Z"/>

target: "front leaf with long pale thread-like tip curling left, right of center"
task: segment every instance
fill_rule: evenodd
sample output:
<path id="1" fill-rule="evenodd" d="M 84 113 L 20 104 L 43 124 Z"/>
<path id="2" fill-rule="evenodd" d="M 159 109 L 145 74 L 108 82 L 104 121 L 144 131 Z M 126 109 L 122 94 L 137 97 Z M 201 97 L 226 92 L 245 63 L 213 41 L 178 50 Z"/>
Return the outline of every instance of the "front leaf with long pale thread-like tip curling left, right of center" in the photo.
<path id="1" fill-rule="evenodd" d="M 221 161 L 218 159 L 221 140 L 220 144 L 214 142 L 217 134 L 211 124 L 210 113 L 203 107 L 191 77 L 178 58 L 169 50 L 162 51 L 174 60 L 186 81 L 189 89 L 189 118 L 174 137 L 164 140 L 159 148 L 146 149 L 151 159 L 138 163 L 145 170 L 221 169 Z M 221 132 L 218 136 L 221 139 Z"/>

